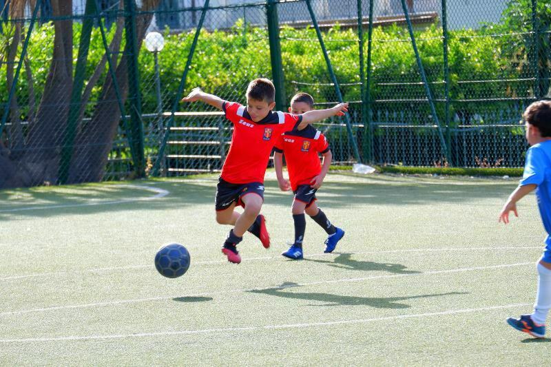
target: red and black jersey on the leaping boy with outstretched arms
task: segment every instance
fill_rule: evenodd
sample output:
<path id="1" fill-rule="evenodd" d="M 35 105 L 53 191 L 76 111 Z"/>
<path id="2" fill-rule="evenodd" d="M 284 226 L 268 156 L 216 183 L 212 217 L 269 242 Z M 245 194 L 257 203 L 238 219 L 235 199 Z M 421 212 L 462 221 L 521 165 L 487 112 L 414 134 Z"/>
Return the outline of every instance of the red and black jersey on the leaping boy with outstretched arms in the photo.
<path id="1" fill-rule="evenodd" d="M 258 121 L 251 120 L 247 107 L 224 102 L 222 109 L 233 123 L 229 152 L 222 166 L 223 180 L 233 184 L 264 182 L 264 174 L 275 140 L 284 132 L 298 127 L 302 116 L 270 112 Z"/>

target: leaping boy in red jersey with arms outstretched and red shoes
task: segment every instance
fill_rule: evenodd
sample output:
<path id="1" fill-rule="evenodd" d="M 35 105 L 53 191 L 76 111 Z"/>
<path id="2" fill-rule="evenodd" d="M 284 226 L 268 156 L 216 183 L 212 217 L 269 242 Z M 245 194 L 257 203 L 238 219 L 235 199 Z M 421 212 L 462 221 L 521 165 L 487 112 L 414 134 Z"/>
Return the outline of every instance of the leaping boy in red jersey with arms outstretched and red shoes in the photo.
<path id="1" fill-rule="evenodd" d="M 182 100 L 208 103 L 224 111 L 226 118 L 233 124 L 231 145 L 216 187 L 216 222 L 234 226 L 229 231 L 222 253 L 229 262 L 235 264 L 241 262 L 236 245 L 241 242 L 246 231 L 260 238 L 265 248 L 270 246 L 266 222 L 264 216 L 260 215 L 260 209 L 264 202 L 264 174 L 275 139 L 292 129 L 302 130 L 309 123 L 330 116 L 342 116 L 348 107 L 347 103 L 340 103 L 330 109 L 300 116 L 273 112 L 275 88 L 265 78 L 251 81 L 246 97 L 247 106 L 243 106 L 223 101 L 195 88 Z M 234 211 L 236 205 L 244 207 L 244 211 Z"/>

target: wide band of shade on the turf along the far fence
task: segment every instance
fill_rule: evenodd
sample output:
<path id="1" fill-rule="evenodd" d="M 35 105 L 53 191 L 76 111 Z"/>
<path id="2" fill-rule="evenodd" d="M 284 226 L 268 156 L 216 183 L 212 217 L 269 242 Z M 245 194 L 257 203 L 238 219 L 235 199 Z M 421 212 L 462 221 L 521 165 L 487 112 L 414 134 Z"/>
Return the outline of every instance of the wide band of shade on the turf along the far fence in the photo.
<path id="1" fill-rule="evenodd" d="M 338 176 L 335 177 L 338 179 Z M 411 205 L 427 202 L 479 202 L 489 197 L 506 196 L 511 191 L 508 185 L 492 185 L 491 182 L 439 183 L 395 182 L 384 176 L 369 180 L 350 178 L 342 182 L 325 182 L 318 191 L 324 207 L 343 208 L 361 205 Z M 156 181 L 135 180 L 131 185 L 153 186 L 169 191 L 163 198 L 151 198 L 154 193 L 145 189 L 129 188 L 118 184 L 88 184 L 66 187 L 32 187 L 30 189 L 0 190 L 0 220 L 24 217 L 66 216 L 78 213 L 103 213 L 147 209 L 165 210 L 212 205 L 217 179 Z M 293 196 L 278 189 L 275 180 L 266 181 L 267 205 L 291 205 Z M 105 202 L 116 202 L 107 204 Z M 122 202 L 120 202 L 122 201 Z M 102 203 L 103 202 L 103 203 Z M 38 208 L 37 208 L 38 207 Z M 32 210 L 26 210 L 32 208 Z"/>

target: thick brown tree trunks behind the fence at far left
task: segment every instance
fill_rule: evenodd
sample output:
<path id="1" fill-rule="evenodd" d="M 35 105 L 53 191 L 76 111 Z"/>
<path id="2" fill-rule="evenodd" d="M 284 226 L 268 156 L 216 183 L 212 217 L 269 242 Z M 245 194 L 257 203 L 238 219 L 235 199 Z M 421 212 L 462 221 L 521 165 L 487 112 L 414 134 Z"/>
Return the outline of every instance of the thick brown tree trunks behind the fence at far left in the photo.
<path id="1" fill-rule="evenodd" d="M 34 9 L 36 1 L 10 1 L 10 19 L 23 18 L 25 6 Z M 87 4 L 90 1 L 96 0 L 87 0 Z M 145 32 L 152 20 L 151 11 L 158 6 L 159 2 L 160 0 L 141 1 L 142 6 L 138 10 L 143 12 L 138 12 L 136 16 L 138 50 L 141 48 Z M 123 0 L 120 3 L 122 8 Z M 121 109 L 112 79 L 107 77 L 101 86 L 97 85 L 99 76 L 105 70 L 107 63 L 107 55 L 104 55 L 84 88 L 74 138 L 67 141 L 67 120 L 75 83 L 73 61 L 73 24 L 75 19 L 72 19 L 72 0 L 51 0 L 51 6 L 54 19 L 56 17 L 61 19 L 56 19 L 53 22 L 53 56 L 49 65 L 48 77 L 37 107 L 32 106 L 34 101 L 30 98 L 30 111 L 36 111 L 36 114 L 28 114 L 28 127 L 23 128 L 19 117 L 21 116 L 19 103 L 15 96 L 12 98 L 10 128 L 6 129 L 0 139 L 0 187 L 21 187 L 41 185 L 45 182 L 59 182 L 61 151 L 63 150 L 61 147 L 67 143 L 71 149 L 70 166 L 67 167 L 67 182 L 101 180 L 120 121 Z M 127 75 L 129 44 L 125 44 L 124 50 L 121 50 L 123 21 L 123 17 L 118 18 L 115 36 L 110 43 L 110 53 L 113 55 L 112 65 L 116 65 L 116 84 L 124 104 L 129 84 Z M 8 22 L 3 25 L 4 43 L 2 48 L 8 51 L 6 53 L 8 90 L 14 83 L 17 50 L 24 39 L 22 35 L 25 34 L 23 28 L 21 22 Z M 6 37 L 6 34 L 12 34 L 12 36 Z M 30 67 L 27 68 L 25 77 L 27 83 L 32 86 Z M 101 96 L 94 106 L 91 120 L 82 123 L 84 107 L 90 101 L 91 91 L 94 87 L 101 87 Z"/>

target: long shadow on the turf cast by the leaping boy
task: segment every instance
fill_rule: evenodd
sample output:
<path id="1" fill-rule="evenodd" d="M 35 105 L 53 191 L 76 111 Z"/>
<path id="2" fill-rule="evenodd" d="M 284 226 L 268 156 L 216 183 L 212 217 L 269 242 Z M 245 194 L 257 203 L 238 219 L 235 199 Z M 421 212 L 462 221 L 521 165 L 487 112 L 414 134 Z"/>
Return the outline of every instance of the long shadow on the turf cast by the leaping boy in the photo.
<path id="1" fill-rule="evenodd" d="M 399 301 L 414 300 L 415 298 L 441 297 L 444 295 L 464 295 L 466 292 L 435 293 L 429 295 L 412 295 L 407 297 L 355 297 L 350 295 L 335 295 L 329 293 L 300 293 L 287 292 L 285 289 L 300 286 L 296 283 L 284 283 L 281 286 L 270 289 L 249 291 L 276 297 L 291 298 L 293 300 L 318 301 L 322 304 L 309 304 L 309 306 L 370 306 L 373 308 L 410 308 L 411 306 Z"/>

